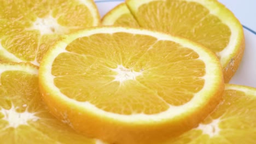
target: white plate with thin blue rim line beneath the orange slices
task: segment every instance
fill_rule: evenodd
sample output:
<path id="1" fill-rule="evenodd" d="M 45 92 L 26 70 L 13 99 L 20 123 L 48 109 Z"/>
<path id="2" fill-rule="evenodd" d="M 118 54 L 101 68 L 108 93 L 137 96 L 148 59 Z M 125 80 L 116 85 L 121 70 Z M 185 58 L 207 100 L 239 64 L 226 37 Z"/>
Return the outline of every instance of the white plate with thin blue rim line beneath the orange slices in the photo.
<path id="1" fill-rule="evenodd" d="M 237 1 L 237 0 L 234 0 Z M 226 7 L 231 9 L 235 15 L 239 15 L 240 17 L 237 17 L 244 27 L 245 32 L 245 39 L 246 39 L 246 49 L 245 53 L 243 55 L 242 62 L 240 64 L 240 67 L 236 71 L 236 74 L 234 77 L 232 77 L 230 83 L 234 83 L 237 85 L 245 85 L 245 86 L 251 86 L 256 87 L 256 29 L 248 28 L 248 25 L 252 25 L 252 23 L 255 22 L 254 19 L 245 19 L 241 15 L 245 15 L 245 10 L 237 9 L 236 7 L 248 7 L 251 8 L 250 10 L 255 11 L 253 7 L 249 7 L 250 5 L 248 2 L 246 3 L 243 1 L 243 5 L 234 4 L 234 1 L 225 1 L 221 0 L 220 2 L 223 2 Z M 106 14 L 109 10 L 114 8 L 116 5 L 123 2 L 123 0 L 95 0 L 96 5 L 98 7 L 98 10 L 100 11 L 101 16 Z M 237 1 L 238 2 L 238 1 Z M 251 1 L 250 1 L 251 2 Z M 255 1 L 256 2 L 256 1 Z M 252 5 L 252 4 L 251 4 Z M 250 11 L 247 9 L 247 11 Z M 247 15 L 246 15 L 247 16 Z M 248 17 L 248 16 L 247 16 Z M 245 23 L 243 23 L 245 22 Z M 255 23 L 256 24 L 256 23 Z M 256 25 L 255 25 L 256 26 Z"/>

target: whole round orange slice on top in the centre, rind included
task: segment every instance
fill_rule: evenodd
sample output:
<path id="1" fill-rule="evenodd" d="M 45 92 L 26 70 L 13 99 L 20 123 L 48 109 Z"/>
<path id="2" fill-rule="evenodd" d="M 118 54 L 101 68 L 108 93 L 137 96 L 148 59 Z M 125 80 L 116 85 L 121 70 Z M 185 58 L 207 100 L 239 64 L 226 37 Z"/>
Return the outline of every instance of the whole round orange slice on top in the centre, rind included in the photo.
<path id="1" fill-rule="evenodd" d="M 46 52 L 39 86 L 49 110 L 110 143 L 165 140 L 222 99 L 218 58 L 192 41 L 124 27 L 67 36 Z"/>

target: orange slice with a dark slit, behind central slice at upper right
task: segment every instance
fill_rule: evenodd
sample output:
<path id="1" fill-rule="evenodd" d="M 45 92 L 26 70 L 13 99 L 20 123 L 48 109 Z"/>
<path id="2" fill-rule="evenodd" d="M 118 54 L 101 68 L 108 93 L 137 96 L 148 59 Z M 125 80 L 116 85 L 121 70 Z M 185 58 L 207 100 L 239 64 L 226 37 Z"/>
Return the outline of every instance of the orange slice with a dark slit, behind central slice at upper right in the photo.
<path id="1" fill-rule="evenodd" d="M 106 14 L 102 23 L 139 25 L 191 39 L 216 53 L 225 82 L 235 74 L 245 49 L 241 23 L 216 0 L 127 0 Z"/>

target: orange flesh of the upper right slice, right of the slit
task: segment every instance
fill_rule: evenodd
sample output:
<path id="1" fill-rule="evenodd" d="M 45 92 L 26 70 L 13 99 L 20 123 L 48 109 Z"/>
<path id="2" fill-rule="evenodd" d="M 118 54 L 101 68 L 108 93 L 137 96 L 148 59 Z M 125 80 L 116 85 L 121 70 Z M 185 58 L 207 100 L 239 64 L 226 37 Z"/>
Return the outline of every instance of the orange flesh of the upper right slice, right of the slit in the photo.
<path id="1" fill-rule="evenodd" d="M 135 13 L 139 25 L 200 43 L 213 52 L 229 43 L 231 31 L 203 5 L 185 1 L 154 1 L 141 5 Z"/>

